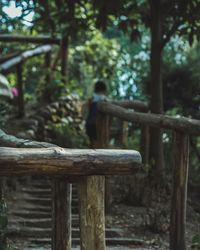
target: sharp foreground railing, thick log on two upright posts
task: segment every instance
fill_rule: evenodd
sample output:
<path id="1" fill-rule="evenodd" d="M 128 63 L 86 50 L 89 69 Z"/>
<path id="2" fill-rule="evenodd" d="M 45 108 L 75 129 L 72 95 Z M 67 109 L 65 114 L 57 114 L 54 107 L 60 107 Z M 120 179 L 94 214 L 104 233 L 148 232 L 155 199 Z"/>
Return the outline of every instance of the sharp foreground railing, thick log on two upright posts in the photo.
<path id="1" fill-rule="evenodd" d="M 52 178 L 53 250 L 71 249 L 70 183 L 79 184 L 81 250 L 104 250 L 104 176 L 131 175 L 140 168 L 141 156 L 133 150 L 0 148 L 0 177 L 39 175 Z"/>

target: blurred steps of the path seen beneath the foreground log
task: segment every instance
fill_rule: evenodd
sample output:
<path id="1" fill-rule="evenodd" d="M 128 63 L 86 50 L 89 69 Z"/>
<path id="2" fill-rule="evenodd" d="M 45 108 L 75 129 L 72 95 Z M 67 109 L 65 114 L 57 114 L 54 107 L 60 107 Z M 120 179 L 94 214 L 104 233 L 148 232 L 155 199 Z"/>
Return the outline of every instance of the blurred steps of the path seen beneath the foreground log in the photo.
<path id="1" fill-rule="evenodd" d="M 51 249 L 51 181 L 47 178 L 19 178 L 8 199 L 8 238 L 16 250 Z M 72 246 L 79 246 L 78 193 L 72 187 Z M 106 244 L 140 244 L 124 238 L 122 229 L 106 228 Z M 77 248 L 76 248 L 77 249 Z"/>

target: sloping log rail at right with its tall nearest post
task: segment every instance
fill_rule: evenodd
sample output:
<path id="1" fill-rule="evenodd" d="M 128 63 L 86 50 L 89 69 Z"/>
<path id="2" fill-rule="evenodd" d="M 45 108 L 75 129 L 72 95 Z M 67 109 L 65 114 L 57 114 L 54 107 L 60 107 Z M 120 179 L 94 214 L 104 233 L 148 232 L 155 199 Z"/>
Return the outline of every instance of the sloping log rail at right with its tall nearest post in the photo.
<path id="1" fill-rule="evenodd" d="M 187 183 L 189 168 L 189 135 L 200 134 L 200 121 L 185 117 L 140 113 L 127 110 L 123 105 L 108 102 L 98 104 L 100 116 L 118 117 L 123 121 L 136 122 L 141 126 L 158 127 L 173 131 L 173 187 L 170 220 L 170 250 L 186 250 L 185 225 Z M 129 107 L 130 106 L 124 106 Z M 103 118 L 101 118 L 103 120 Z M 108 130 L 109 128 L 104 128 Z M 108 134 L 108 133 L 107 133 Z M 108 140 L 108 139 L 107 139 Z"/>

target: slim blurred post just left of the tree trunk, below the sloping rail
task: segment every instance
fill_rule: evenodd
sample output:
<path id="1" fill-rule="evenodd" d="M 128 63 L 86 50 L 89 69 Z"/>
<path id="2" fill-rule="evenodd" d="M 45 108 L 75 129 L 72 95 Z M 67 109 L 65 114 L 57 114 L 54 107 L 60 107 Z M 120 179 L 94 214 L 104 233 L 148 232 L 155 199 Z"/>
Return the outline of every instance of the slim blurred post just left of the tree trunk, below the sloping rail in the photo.
<path id="1" fill-rule="evenodd" d="M 149 126 L 141 127 L 140 137 L 140 152 L 142 154 L 143 164 L 148 164 L 149 161 Z"/>

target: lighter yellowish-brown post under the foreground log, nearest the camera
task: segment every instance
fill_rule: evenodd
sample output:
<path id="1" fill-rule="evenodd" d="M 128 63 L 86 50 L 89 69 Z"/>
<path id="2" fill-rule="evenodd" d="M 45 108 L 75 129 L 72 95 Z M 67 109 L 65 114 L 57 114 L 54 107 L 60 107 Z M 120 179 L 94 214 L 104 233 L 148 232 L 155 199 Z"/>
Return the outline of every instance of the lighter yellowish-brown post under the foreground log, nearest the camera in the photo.
<path id="1" fill-rule="evenodd" d="M 103 176 L 84 177 L 79 186 L 81 250 L 105 250 Z"/>

